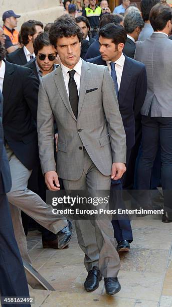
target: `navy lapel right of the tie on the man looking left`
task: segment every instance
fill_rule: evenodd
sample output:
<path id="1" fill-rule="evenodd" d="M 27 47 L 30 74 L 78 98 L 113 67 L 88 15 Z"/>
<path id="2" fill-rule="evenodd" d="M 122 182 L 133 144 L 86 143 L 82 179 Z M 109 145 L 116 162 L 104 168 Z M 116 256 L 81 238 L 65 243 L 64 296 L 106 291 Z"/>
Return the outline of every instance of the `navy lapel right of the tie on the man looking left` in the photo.
<path id="1" fill-rule="evenodd" d="M 131 63 L 128 57 L 125 56 L 125 62 L 122 71 L 121 84 L 120 84 L 119 97 L 118 97 L 119 105 L 123 102 L 125 98 L 125 94 L 128 90 L 128 87 L 130 86 L 131 79 L 132 79 Z"/>

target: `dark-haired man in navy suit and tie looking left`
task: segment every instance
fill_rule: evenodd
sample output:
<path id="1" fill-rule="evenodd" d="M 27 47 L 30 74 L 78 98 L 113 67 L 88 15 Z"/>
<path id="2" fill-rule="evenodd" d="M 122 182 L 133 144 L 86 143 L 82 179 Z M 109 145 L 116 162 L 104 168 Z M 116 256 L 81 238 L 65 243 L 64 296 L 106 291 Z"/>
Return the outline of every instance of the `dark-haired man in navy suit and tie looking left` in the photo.
<path id="1" fill-rule="evenodd" d="M 135 117 L 139 114 L 144 102 L 147 82 L 145 66 L 123 55 L 125 41 L 126 32 L 122 26 L 114 24 L 104 26 L 99 32 L 101 56 L 87 61 L 107 65 L 111 73 L 126 134 L 126 165 L 128 165 L 131 148 L 135 142 Z M 119 185 L 121 185 L 119 181 L 113 181 L 111 189 L 119 189 Z M 120 196 L 120 193 L 117 195 Z M 120 201 L 122 202 L 122 199 Z M 112 224 L 118 242 L 118 250 L 129 249 L 129 242 L 132 242 L 129 220 L 113 220 Z"/>

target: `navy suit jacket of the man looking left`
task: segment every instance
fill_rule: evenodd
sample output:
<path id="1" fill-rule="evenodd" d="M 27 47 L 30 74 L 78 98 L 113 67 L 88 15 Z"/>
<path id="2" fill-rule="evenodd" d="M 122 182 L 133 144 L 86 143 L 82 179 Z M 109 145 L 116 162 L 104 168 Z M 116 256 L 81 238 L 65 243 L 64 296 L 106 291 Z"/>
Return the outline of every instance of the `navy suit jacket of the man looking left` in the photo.
<path id="1" fill-rule="evenodd" d="M 106 65 L 101 56 L 89 59 L 87 62 Z M 145 65 L 125 56 L 118 103 L 126 134 L 127 150 L 131 149 L 135 142 L 135 118 L 140 113 L 146 91 Z"/>

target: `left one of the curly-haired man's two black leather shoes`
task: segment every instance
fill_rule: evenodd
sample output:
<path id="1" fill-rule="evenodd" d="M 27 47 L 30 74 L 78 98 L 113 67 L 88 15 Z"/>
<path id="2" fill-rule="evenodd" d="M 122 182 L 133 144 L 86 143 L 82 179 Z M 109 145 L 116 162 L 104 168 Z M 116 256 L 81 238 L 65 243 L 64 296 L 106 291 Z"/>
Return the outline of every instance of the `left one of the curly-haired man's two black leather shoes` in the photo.
<path id="1" fill-rule="evenodd" d="M 84 288 L 86 291 L 94 291 L 99 286 L 99 281 L 102 279 L 100 270 L 94 266 L 92 270 L 88 272 L 88 276 L 84 282 Z"/>

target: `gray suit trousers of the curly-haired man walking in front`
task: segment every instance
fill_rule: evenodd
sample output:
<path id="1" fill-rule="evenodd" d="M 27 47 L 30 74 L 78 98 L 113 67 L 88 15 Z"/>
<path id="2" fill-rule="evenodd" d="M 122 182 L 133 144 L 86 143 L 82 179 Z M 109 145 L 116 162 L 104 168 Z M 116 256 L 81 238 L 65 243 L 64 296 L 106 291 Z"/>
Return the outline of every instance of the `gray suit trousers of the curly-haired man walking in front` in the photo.
<path id="1" fill-rule="evenodd" d="M 110 176 L 102 175 L 95 167 L 84 148 L 84 170 L 77 181 L 63 180 L 66 190 L 110 190 Z M 97 208 L 95 208 L 97 209 Z M 84 264 L 87 271 L 93 266 L 100 269 L 104 277 L 116 277 L 120 269 L 120 259 L 109 214 L 104 219 L 75 220 L 78 243 L 85 253 Z"/>

